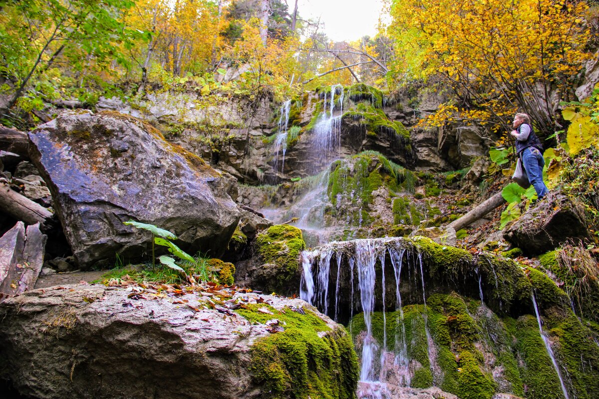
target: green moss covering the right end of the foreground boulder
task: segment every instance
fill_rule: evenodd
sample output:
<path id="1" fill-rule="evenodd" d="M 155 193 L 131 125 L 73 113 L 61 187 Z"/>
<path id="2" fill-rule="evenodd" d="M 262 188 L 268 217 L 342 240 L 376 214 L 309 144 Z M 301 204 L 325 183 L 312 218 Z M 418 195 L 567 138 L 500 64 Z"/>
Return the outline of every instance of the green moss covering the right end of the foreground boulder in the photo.
<path id="1" fill-rule="evenodd" d="M 237 313 L 261 324 L 276 318 L 284 328 L 256 340 L 251 349 L 250 370 L 264 386 L 262 397 L 355 398 L 358 358 L 343 328 L 331 330 L 310 310 L 301 315 L 268 306 L 270 315 L 259 312 L 259 307 L 263 306 L 246 306 Z"/>

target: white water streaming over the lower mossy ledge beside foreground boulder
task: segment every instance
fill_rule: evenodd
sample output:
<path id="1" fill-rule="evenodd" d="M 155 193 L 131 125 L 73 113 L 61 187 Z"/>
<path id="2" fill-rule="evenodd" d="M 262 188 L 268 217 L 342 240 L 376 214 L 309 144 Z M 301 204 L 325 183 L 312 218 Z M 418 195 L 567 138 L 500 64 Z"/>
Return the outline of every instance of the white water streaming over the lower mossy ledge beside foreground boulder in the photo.
<path id="1" fill-rule="evenodd" d="M 351 249 L 347 248 L 348 245 L 351 246 Z M 358 296 L 365 325 L 365 331 L 360 336 L 360 340 L 362 340 L 360 379 L 362 382 L 385 383 L 388 378 L 391 378 L 394 380 L 394 383 L 398 383 L 402 386 L 409 386 L 415 368 L 420 367 L 410 366 L 409 345 L 414 345 L 414 343 L 412 342 L 409 344 L 406 339 L 406 324 L 404 321 L 403 303 L 400 293 L 401 272 L 405 262 L 404 255 L 409 254 L 406 252 L 406 248 L 403 247 L 403 241 L 395 238 L 332 242 L 320 249 L 304 251 L 302 253 L 304 265 L 304 275 L 302 276 L 300 290 L 302 299 L 318 306 L 320 310 L 323 310 L 329 316 L 334 316 L 335 320 L 338 320 L 341 318 L 340 307 L 342 306 L 346 306 L 345 309 L 348 307 L 350 308 L 350 315 L 345 314 L 344 317 L 346 319 L 353 317 L 353 296 L 354 294 Z M 333 256 L 337 257 L 336 261 L 332 260 Z M 343 257 L 345 257 L 346 263 L 343 263 Z M 386 288 L 382 288 L 382 345 L 379 346 L 377 340 L 373 336 L 372 315 L 375 306 L 375 285 L 377 284 L 377 281 L 385 281 L 385 266 L 388 264 L 386 259 L 390 260 L 393 268 L 395 276 L 395 295 L 397 299 L 395 304 L 395 348 L 393 352 L 388 352 L 387 349 L 388 337 L 386 330 L 388 328 L 388 317 L 386 312 L 387 303 L 384 299 L 386 297 Z M 410 276 L 419 280 L 417 284 L 422 287 L 422 300 L 426 306 L 422 257 L 419 254 L 412 254 L 411 261 L 415 270 L 413 273 L 410 273 Z M 331 263 L 337 264 L 337 270 L 335 272 L 331 272 L 331 267 L 329 266 Z M 340 295 L 338 294 L 340 284 L 339 279 L 343 264 L 349 265 L 350 269 L 349 280 L 352 293 L 349 300 L 347 298 L 340 298 Z M 377 268 L 377 265 L 379 264 L 381 269 Z M 357 291 L 354 289 L 354 270 L 355 275 L 358 278 Z M 334 278 L 336 278 L 336 280 L 332 281 Z M 329 279 L 331 281 L 329 281 Z M 383 283 L 383 287 L 385 287 L 386 284 L 387 283 Z M 335 287 L 334 309 L 332 309 L 328 303 L 329 287 L 330 290 Z M 426 316 L 423 317 L 425 325 L 422 333 L 426 336 L 431 372 L 433 375 L 437 375 L 438 373 L 435 373 L 435 370 L 437 370 L 435 364 L 436 350 L 431 334 L 428 331 L 428 321 L 426 320 Z M 352 324 L 350 323 L 350 330 L 351 328 Z"/>

